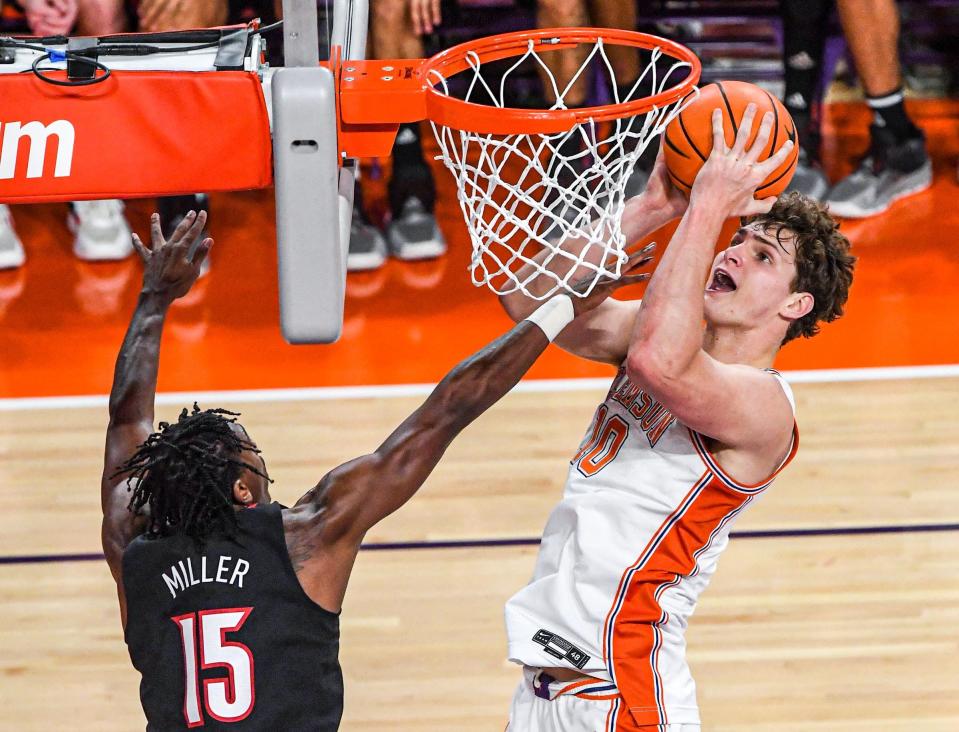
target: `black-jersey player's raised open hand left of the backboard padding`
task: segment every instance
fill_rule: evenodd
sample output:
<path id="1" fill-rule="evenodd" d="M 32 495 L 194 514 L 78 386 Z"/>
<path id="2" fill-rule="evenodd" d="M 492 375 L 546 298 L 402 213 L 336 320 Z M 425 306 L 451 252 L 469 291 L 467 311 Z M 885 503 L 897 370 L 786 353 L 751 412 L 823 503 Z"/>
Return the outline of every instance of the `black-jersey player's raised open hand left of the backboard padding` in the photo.
<path id="1" fill-rule="evenodd" d="M 163 237 L 160 215 L 150 218 L 150 246 L 147 247 L 136 234 L 133 246 L 143 260 L 143 292 L 160 295 L 173 302 L 183 297 L 200 276 L 200 266 L 213 246 L 213 239 L 206 238 L 191 252 L 206 225 L 206 211 L 190 211 L 176 227 L 169 241 Z"/>

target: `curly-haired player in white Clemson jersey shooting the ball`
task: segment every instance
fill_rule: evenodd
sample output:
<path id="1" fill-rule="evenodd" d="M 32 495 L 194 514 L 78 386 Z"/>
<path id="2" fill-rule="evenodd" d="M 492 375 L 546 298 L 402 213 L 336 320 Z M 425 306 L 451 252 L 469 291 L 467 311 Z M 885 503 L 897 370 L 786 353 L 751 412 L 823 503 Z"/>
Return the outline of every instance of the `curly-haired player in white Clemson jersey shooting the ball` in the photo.
<path id="1" fill-rule="evenodd" d="M 687 621 L 733 521 L 798 447 L 773 360 L 842 314 L 855 262 L 819 204 L 754 199 L 792 147 L 757 162 L 772 115 L 749 146 L 755 116 L 750 105 L 730 149 L 716 110 L 688 206 L 660 156 L 623 218 L 636 241 L 682 216 L 644 299 L 606 300 L 556 340 L 619 371 L 571 461 L 533 578 L 506 605 L 509 657 L 524 666 L 509 732 L 699 729 Z M 730 216 L 742 226 L 715 255 Z M 516 320 L 536 307 L 522 293 L 501 301 Z"/>

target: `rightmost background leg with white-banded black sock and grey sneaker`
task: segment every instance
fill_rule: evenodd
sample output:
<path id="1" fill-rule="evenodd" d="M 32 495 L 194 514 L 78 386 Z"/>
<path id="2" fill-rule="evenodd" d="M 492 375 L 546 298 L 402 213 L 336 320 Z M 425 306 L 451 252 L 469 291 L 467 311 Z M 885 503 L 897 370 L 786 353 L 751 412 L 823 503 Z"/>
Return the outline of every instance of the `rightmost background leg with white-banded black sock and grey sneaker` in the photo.
<path id="1" fill-rule="evenodd" d="M 906 114 L 899 66 L 899 11 L 894 0 L 837 0 L 856 70 L 873 110 L 870 148 L 852 174 L 829 192 L 838 216 L 882 213 L 932 185 L 922 131 Z"/>

